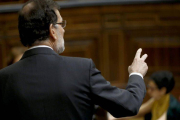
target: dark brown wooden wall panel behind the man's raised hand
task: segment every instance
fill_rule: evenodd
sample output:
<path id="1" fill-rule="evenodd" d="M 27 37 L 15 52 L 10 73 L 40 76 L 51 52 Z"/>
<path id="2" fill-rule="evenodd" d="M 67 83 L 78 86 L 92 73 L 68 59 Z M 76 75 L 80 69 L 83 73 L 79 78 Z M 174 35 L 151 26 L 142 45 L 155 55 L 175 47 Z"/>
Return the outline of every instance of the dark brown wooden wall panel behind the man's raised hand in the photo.
<path id="1" fill-rule="evenodd" d="M 168 30 L 169 31 L 169 30 Z M 134 32 L 134 33 L 133 33 Z M 146 60 L 148 64 L 148 73 L 145 79 L 155 71 L 158 70 L 168 70 L 174 74 L 176 85 L 174 90 L 172 91 L 173 95 L 178 98 L 180 95 L 179 87 L 180 87 L 180 37 L 176 32 L 171 34 L 163 34 L 166 33 L 165 30 L 161 30 L 161 32 L 148 31 L 146 34 L 146 30 L 139 31 L 138 34 L 136 31 L 131 31 L 130 34 L 126 34 L 127 42 L 126 47 L 128 47 L 127 54 L 130 56 L 126 57 L 128 63 L 131 63 L 131 60 L 134 57 L 135 51 L 138 48 L 143 48 L 143 54 L 147 53 L 148 58 Z M 147 95 L 145 101 L 149 99 Z"/>

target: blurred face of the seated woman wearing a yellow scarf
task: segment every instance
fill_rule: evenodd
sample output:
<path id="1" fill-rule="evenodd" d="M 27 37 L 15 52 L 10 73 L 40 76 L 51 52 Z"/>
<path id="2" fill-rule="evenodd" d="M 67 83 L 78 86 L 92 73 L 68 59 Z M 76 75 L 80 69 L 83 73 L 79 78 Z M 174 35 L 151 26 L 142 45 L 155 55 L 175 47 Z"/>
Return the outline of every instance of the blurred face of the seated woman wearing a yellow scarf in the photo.
<path id="1" fill-rule="evenodd" d="M 164 90 L 159 89 L 154 81 L 150 80 L 147 85 L 147 91 L 150 97 L 159 100 L 162 96 L 165 95 Z"/>

